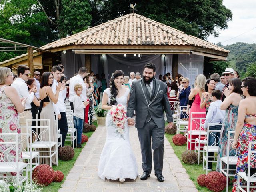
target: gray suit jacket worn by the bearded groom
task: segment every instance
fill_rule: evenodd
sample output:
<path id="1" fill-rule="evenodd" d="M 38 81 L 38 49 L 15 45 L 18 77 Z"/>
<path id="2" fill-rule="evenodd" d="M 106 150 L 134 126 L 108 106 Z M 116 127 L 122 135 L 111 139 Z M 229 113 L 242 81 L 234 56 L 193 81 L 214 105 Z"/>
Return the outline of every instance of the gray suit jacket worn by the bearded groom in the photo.
<path id="1" fill-rule="evenodd" d="M 164 127 L 164 111 L 167 121 L 173 122 L 172 111 L 167 96 L 167 85 L 155 78 L 153 81 L 151 96 L 143 79 L 132 83 L 127 107 L 127 117 L 132 118 L 134 110 L 136 110 L 136 128 L 143 128 L 148 114 L 150 114 L 159 128 Z"/>

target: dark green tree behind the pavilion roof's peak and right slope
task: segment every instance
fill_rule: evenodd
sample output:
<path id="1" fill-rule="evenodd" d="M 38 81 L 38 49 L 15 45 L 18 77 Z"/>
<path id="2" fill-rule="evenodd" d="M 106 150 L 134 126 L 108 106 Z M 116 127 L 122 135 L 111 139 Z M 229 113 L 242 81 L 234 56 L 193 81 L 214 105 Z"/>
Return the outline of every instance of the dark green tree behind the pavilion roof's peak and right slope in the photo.
<path id="1" fill-rule="evenodd" d="M 92 26 L 130 13 L 131 0 L 90 0 Z M 218 36 L 216 28 L 223 30 L 232 20 L 232 12 L 222 0 L 141 0 L 136 13 L 156 20 L 186 34 L 206 39 Z"/>

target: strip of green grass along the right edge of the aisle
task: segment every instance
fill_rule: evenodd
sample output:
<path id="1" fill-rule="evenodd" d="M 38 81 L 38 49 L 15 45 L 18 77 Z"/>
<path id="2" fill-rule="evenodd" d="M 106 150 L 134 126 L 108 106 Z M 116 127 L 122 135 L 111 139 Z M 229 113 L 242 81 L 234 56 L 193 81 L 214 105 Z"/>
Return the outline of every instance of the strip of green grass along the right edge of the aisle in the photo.
<path id="1" fill-rule="evenodd" d="M 200 192 L 209 192 L 208 188 L 199 186 L 198 183 L 197 183 L 197 177 L 200 174 L 205 174 L 206 173 L 205 170 L 203 170 L 203 164 L 202 163 L 200 163 L 199 165 L 198 164 L 192 164 L 192 165 L 184 164 L 181 160 L 181 154 L 182 154 L 182 152 L 187 150 L 187 145 L 184 144 L 182 146 L 176 146 L 172 142 L 172 137 L 174 135 L 165 134 L 165 136 L 168 139 L 168 141 L 170 142 L 170 145 L 172 146 L 172 148 L 174 150 L 174 153 L 180 159 L 180 162 L 182 163 L 182 166 L 186 169 L 186 172 L 188 173 L 190 179 L 194 182 L 198 191 L 200 191 Z M 212 170 L 216 170 L 216 163 L 212 164 Z M 232 191 L 232 185 L 233 185 L 233 183 L 230 182 L 229 187 L 228 187 L 228 191 Z M 226 188 L 223 190 L 223 192 L 226 192 Z"/>

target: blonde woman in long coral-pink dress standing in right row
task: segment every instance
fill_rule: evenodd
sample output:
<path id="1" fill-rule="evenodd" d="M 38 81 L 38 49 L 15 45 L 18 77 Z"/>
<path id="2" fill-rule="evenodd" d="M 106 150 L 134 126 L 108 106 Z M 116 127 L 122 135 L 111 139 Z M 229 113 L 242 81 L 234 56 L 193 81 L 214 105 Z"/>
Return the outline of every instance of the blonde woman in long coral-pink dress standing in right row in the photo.
<path id="1" fill-rule="evenodd" d="M 205 118 L 206 116 L 205 108 L 203 109 L 200 108 L 201 96 L 205 92 L 204 86 L 206 84 L 206 81 L 207 81 L 206 77 L 203 74 L 199 74 L 198 76 L 196 76 L 195 88 L 191 89 L 191 92 L 188 96 L 189 100 L 192 100 L 194 98 L 194 102 L 192 103 L 192 106 L 189 111 L 188 131 L 198 129 L 198 126 L 200 124 L 199 120 L 193 120 L 192 123 L 190 123 L 190 118 L 192 118 L 191 117 L 192 112 L 204 112 L 204 114 L 194 114 L 193 118 L 194 117 Z M 190 135 L 188 137 L 190 138 Z M 198 135 L 193 135 L 191 136 L 191 138 L 194 140 L 198 138 Z M 188 142 L 188 150 L 194 150 L 194 149 L 195 149 L 195 144 L 191 143 L 191 146 L 190 146 L 190 142 Z"/>

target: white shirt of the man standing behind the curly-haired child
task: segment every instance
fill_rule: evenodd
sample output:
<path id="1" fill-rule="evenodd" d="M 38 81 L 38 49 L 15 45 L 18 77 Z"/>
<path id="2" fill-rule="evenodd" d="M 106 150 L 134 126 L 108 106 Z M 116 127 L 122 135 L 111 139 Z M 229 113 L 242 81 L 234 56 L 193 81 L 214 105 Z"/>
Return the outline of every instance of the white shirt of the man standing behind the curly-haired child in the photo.
<path id="1" fill-rule="evenodd" d="M 70 82 L 69 82 L 69 101 L 71 101 L 71 102 L 74 101 L 74 96 L 76 95 L 74 87 L 75 87 L 75 84 L 77 84 L 77 83 L 79 83 L 83 86 L 81 98 L 82 98 L 83 101 L 86 101 L 87 100 L 86 85 L 84 83 L 84 80 L 83 80 L 82 76 L 80 76 L 79 74 L 70 79 Z"/>

